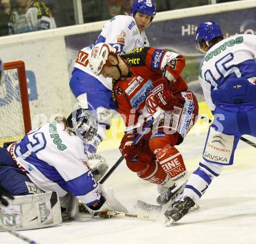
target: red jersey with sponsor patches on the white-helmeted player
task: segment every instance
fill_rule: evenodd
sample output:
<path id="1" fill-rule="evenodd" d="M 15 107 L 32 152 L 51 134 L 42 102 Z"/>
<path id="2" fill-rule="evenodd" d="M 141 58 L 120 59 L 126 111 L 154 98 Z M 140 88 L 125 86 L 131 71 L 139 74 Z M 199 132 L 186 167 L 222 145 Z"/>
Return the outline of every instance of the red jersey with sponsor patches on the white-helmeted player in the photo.
<path id="1" fill-rule="evenodd" d="M 173 95 L 187 90 L 187 84 L 180 76 L 185 60 L 179 53 L 141 47 L 121 57 L 130 71 L 127 77 L 115 82 L 114 94 L 126 126 L 136 124 L 140 114 L 149 117 L 156 112 L 158 106 L 152 95 L 152 84 L 158 78 L 168 78 Z"/>

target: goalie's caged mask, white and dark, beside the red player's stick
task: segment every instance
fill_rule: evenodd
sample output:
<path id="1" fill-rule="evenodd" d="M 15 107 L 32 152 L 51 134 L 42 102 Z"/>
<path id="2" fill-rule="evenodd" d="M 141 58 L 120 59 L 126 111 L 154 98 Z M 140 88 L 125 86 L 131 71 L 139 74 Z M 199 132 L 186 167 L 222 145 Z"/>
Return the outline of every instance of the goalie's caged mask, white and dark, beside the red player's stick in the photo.
<path id="1" fill-rule="evenodd" d="M 87 142 L 97 135 L 98 121 L 96 118 L 96 113 L 80 108 L 74 110 L 67 117 L 67 124 L 69 125 L 69 130 L 73 131 L 84 142 Z"/>

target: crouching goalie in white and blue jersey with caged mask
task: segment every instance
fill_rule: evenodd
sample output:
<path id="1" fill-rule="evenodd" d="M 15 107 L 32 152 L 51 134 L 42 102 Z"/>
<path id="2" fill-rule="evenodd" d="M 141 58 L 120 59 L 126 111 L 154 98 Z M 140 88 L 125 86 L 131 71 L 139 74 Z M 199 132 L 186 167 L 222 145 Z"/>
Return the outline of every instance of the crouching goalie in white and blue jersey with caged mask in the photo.
<path id="1" fill-rule="evenodd" d="M 97 131 L 90 110 L 75 110 L 66 119 L 30 131 L 7 149 L 0 148 L 0 183 L 14 196 L 57 192 L 70 193 L 91 213 L 109 209 L 101 186 L 88 167 L 84 142 Z M 38 192 L 37 192 L 38 193 Z"/>

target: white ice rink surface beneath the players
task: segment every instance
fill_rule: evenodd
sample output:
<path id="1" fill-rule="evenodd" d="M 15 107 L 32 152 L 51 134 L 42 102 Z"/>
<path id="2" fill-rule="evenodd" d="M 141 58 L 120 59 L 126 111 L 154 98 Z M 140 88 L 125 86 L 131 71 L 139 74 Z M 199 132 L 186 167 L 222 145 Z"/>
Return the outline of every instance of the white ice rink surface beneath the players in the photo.
<path id="1" fill-rule="evenodd" d="M 189 134 L 177 148 L 182 152 L 187 170 L 198 167 L 206 135 Z M 247 137 L 248 138 L 248 137 Z M 251 138 L 248 138 L 251 139 Z M 255 140 L 254 140 L 255 141 Z M 111 167 L 119 159 L 117 149 L 100 150 Z M 118 243 L 118 244 L 255 244 L 256 243 L 256 148 L 240 142 L 234 165 L 212 181 L 202 197 L 200 210 L 187 214 L 172 227 L 157 221 L 123 218 L 99 219 L 81 216 L 79 220 L 57 227 L 20 231 L 37 243 Z M 116 198 L 131 213 L 137 200 L 156 204 L 157 186 L 140 180 L 122 162 L 105 182 L 112 186 Z M 0 232 L 0 243 L 25 243 L 6 232 Z"/>

